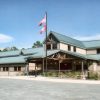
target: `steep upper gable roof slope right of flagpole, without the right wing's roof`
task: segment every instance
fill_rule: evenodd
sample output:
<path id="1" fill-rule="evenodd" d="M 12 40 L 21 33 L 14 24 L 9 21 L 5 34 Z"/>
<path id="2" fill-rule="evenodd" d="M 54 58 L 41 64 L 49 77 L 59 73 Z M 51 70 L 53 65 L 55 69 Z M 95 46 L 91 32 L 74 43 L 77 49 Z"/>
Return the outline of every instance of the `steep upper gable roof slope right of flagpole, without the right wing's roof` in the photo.
<path id="1" fill-rule="evenodd" d="M 70 45 L 77 46 L 80 48 L 85 48 L 84 44 L 79 40 L 73 39 L 71 37 L 68 37 L 68 36 L 53 32 L 53 31 L 50 31 L 49 35 L 50 34 L 53 34 L 55 38 L 61 43 L 70 44 Z"/>

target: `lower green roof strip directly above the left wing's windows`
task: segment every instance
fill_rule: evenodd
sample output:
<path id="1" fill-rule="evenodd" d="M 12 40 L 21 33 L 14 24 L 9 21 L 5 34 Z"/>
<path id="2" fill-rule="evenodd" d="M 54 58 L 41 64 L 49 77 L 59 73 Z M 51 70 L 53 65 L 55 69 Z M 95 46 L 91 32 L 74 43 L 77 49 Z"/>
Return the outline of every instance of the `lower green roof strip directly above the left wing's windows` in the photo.
<path id="1" fill-rule="evenodd" d="M 0 64 L 26 63 L 25 56 L 0 58 Z"/>

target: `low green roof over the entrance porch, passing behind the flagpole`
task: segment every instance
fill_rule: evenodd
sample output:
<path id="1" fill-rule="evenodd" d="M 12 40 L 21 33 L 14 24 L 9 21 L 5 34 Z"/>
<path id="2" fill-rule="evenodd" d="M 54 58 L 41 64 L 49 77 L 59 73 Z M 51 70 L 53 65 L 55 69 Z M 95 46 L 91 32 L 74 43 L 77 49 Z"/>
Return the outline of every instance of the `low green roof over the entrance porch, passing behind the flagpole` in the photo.
<path id="1" fill-rule="evenodd" d="M 76 52 L 71 51 L 64 51 L 64 50 L 48 50 L 47 56 L 53 55 L 58 52 L 63 52 L 69 55 L 72 55 L 74 57 L 78 57 L 81 59 L 90 59 L 90 60 L 100 60 L 100 55 L 84 55 Z M 32 58 L 45 58 L 45 50 L 44 48 L 34 48 L 34 49 L 27 49 L 23 51 L 24 55 L 27 55 L 25 59 L 32 59 Z"/>

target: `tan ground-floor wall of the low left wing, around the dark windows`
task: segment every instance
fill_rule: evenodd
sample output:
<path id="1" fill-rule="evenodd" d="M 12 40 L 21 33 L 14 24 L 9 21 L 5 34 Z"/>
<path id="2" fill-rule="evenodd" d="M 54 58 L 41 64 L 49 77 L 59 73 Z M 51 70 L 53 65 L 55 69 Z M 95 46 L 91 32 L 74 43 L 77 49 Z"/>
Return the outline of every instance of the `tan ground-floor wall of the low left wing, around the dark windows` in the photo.
<path id="1" fill-rule="evenodd" d="M 42 70 L 42 64 L 35 64 L 35 63 L 29 63 L 28 64 L 28 70 L 29 72 L 36 70 L 40 71 Z M 21 71 L 14 71 L 14 67 L 21 66 Z M 27 64 L 4 64 L 0 65 L 0 76 L 19 76 L 19 75 L 25 75 L 27 73 Z M 3 67 L 8 67 L 9 71 L 3 71 Z"/>

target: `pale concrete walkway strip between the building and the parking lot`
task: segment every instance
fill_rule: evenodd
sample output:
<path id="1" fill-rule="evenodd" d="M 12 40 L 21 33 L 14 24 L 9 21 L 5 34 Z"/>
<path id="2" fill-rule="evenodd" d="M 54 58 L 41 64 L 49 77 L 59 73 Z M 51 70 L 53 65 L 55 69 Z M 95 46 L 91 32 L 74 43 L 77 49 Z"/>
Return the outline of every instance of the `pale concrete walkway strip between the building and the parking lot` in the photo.
<path id="1" fill-rule="evenodd" d="M 54 77 L 34 77 L 34 76 L 0 76 L 0 78 L 8 79 L 21 79 L 21 80 L 35 80 L 35 81 L 48 81 L 59 83 L 81 83 L 81 84 L 100 84 L 100 80 L 75 80 L 75 79 L 62 79 Z"/>

